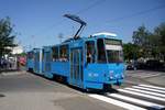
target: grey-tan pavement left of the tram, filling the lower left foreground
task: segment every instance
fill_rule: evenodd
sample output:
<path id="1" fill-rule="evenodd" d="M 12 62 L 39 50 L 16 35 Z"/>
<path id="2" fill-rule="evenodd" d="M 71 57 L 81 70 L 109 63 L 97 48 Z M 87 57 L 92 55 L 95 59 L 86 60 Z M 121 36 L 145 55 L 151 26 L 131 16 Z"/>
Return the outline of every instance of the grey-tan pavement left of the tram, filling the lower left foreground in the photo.
<path id="1" fill-rule="evenodd" d="M 25 72 L 0 75 L 0 110 L 123 110 Z"/>

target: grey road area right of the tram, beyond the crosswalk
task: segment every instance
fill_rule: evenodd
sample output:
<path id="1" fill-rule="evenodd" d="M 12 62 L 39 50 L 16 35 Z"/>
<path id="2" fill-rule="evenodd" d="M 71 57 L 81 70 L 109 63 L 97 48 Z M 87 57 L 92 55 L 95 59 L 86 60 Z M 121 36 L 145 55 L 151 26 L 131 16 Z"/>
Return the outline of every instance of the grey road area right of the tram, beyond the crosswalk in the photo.
<path id="1" fill-rule="evenodd" d="M 127 70 L 125 84 L 139 85 L 156 85 L 165 87 L 165 73 L 152 70 Z"/>

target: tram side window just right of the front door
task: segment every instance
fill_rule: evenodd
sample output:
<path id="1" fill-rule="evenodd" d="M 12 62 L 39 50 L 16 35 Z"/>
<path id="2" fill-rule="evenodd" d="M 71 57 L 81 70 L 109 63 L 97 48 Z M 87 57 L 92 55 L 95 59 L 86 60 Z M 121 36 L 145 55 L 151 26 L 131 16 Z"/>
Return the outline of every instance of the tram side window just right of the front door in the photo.
<path id="1" fill-rule="evenodd" d="M 86 61 L 87 63 L 95 63 L 95 42 L 88 41 L 86 42 Z"/>

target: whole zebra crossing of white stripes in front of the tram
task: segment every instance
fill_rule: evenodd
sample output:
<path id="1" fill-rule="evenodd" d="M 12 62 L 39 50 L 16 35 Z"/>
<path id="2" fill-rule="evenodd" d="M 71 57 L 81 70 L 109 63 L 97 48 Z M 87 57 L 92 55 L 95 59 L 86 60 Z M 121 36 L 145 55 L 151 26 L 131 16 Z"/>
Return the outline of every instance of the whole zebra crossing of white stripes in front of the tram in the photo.
<path id="1" fill-rule="evenodd" d="M 88 96 L 129 110 L 146 110 L 145 107 L 151 107 L 153 109 L 165 108 L 164 105 L 160 105 L 158 102 L 155 103 L 145 100 L 145 98 L 148 98 L 155 101 L 157 100 L 165 102 L 165 88 L 163 87 L 152 85 L 139 85 L 132 86 L 131 88 L 118 89 L 118 91 L 124 92 L 125 95 L 107 94 L 107 96 L 102 95 L 88 95 Z M 140 98 L 142 97 L 143 99 L 133 98 L 129 95 L 139 96 Z"/>

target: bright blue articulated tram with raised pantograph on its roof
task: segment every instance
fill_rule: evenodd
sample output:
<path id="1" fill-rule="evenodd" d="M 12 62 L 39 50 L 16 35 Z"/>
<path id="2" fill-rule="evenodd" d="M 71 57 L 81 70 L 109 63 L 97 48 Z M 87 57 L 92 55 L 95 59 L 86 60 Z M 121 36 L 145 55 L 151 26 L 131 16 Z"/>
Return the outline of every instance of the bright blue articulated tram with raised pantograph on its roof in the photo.
<path id="1" fill-rule="evenodd" d="M 86 22 L 75 15 L 65 16 L 81 24 L 74 38 L 29 52 L 28 70 L 82 89 L 107 89 L 111 85 L 121 85 L 124 78 L 121 38 L 107 32 L 78 37 Z"/>

